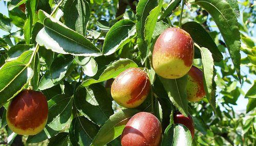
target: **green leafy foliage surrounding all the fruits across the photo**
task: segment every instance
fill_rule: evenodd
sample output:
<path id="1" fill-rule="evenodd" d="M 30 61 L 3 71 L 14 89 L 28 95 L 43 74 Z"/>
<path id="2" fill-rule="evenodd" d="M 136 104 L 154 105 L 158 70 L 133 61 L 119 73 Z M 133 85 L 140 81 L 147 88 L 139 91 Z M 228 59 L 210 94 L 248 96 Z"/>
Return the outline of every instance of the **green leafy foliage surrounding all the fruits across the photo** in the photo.
<path id="1" fill-rule="evenodd" d="M 49 114 L 44 130 L 22 136 L 24 143 L 121 145 L 125 124 L 146 111 L 161 122 L 163 146 L 179 145 L 179 139 L 185 145 L 255 145 L 255 1 L 4 3 L 8 16 L 0 13 L 0 29 L 7 34 L 0 38 L 0 142 L 21 144 L 21 136 L 7 126 L 6 109 L 29 88 L 44 93 Z M 193 65 L 203 71 L 206 91 L 199 102 L 187 100 L 187 75 L 165 79 L 153 69 L 155 42 L 168 27 L 182 28 L 194 41 Z M 113 101 L 111 84 L 132 67 L 145 71 L 152 87 L 140 106 L 126 109 Z M 239 98 L 248 98 L 246 111 L 234 109 Z M 186 127 L 174 124 L 177 110 L 193 118 L 194 139 Z"/>

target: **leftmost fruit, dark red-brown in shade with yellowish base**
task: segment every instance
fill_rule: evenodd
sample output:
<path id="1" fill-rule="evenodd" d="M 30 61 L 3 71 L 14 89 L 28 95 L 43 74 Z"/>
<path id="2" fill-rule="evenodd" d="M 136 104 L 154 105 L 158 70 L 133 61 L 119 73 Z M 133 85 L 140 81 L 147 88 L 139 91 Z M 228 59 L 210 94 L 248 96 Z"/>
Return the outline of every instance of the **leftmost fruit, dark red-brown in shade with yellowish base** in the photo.
<path id="1" fill-rule="evenodd" d="M 45 128 L 48 104 L 44 94 L 23 90 L 9 104 L 6 119 L 9 128 L 20 135 L 35 135 Z"/>

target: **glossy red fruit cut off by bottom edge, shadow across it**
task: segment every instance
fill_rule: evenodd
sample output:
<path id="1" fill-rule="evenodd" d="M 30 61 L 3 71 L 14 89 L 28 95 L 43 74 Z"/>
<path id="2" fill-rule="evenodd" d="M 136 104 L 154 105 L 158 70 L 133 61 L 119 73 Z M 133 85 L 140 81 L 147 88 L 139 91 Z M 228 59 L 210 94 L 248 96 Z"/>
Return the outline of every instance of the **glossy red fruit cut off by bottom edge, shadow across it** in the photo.
<path id="1" fill-rule="evenodd" d="M 157 146 L 160 143 L 162 127 L 155 115 L 149 112 L 135 114 L 125 125 L 122 146 Z"/>

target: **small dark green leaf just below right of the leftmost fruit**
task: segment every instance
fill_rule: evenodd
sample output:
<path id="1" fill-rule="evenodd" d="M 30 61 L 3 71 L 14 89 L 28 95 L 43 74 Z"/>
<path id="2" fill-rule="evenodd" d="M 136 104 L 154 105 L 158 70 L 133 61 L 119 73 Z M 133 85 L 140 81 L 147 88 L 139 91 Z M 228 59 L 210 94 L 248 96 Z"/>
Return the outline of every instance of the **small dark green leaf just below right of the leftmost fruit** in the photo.
<path id="1" fill-rule="evenodd" d="M 49 126 L 46 125 L 44 130 L 42 130 L 38 134 L 30 135 L 26 140 L 26 143 L 38 143 L 46 139 L 49 139 L 58 133 L 59 133 L 58 131 L 51 129 Z"/>

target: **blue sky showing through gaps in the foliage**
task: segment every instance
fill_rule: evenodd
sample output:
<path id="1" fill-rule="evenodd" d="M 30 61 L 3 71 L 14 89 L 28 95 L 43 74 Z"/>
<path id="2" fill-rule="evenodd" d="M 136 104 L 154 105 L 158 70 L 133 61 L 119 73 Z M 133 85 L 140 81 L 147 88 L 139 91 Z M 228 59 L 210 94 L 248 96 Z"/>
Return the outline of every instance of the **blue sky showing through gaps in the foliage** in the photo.
<path id="1" fill-rule="evenodd" d="M 0 1 L 0 13 L 8 16 L 8 10 L 7 10 L 7 7 L 4 5 L 4 2 L 3 1 Z M 241 18 L 239 19 L 239 21 L 241 21 Z M 216 28 L 218 29 L 218 28 Z M 12 32 L 15 31 L 16 28 L 14 27 Z M 2 37 L 3 35 L 7 35 L 8 33 L 7 32 L 4 32 L 0 29 L 0 37 Z M 255 37 L 255 34 L 253 35 L 253 37 Z M 242 57 L 245 57 L 245 54 L 242 53 Z M 242 74 L 249 74 L 248 70 L 246 67 L 241 67 L 241 72 Z M 256 79 L 256 76 L 255 75 L 250 75 L 250 78 L 249 78 L 252 82 L 253 80 Z M 251 85 L 248 84 L 248 83 L 245 83 L 243 86 L 242 86 L 242 90 L 244 91 L 244 93 L 246 93 L 249 89 L 250 89 Z M 246 109 L 246 105 L 248 103 L 248 99 L 245 99 L 244 97 L 240 96 L 238 101 L 237 101 L 237 104 L 238 105 L 234 105 L 234 110 L 235 111 L 243 111 Z"/>

